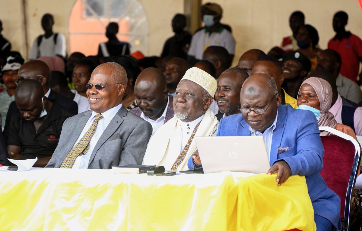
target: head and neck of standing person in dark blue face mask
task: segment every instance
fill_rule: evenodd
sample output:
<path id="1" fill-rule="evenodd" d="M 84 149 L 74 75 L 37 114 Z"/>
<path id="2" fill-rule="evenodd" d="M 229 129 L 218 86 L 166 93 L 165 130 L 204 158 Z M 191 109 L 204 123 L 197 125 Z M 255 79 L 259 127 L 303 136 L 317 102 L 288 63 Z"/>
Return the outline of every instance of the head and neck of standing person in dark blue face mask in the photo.
<path id="1" fill-rule="evenodd" d="M 311 71 L 314 71 L 317 66 L 317 57 L 322 51 L 318 47 L 318 31 L 309 24 L 300 26 L 296 40 L 299 46 L 299 50 L 297 51 L 310 59 L 312 64 Z"/>

